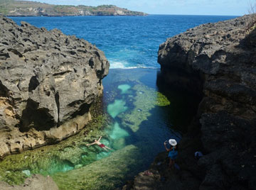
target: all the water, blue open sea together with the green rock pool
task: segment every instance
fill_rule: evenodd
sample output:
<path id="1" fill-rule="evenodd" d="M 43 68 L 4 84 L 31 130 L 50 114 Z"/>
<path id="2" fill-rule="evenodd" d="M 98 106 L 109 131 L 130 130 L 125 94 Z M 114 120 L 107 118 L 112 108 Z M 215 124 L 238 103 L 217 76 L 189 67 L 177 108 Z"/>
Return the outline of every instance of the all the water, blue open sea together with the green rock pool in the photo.
<path id="1" fill-rule="evenodd" d="M 110 69 L 103 79 L 101 102 L 108 121 L 102 128 L 86 132 L 86 137 L 80 133 L 58 145 L 6 157 L 0 162 L 0 178 L 14 183 L 31 174 L 50 174 L 60 189 L 113 189 L 147 169 L 154 157 L 164 151 L 165 140 L 181 140 L 198 105 L 196 97 L 171 86 L 167 91 L 159 90 L 163 89 L 156 85 L 159 44 L 187 28 L 229 18 L 233 17 L 13 18 L 85 38 L 105 52 L 111 68 L 122 69 Z M 86 146 L 100 135 L 101 142 L 112 148 L 110 152 L 97 145 Z M 105 182 L 100 183 L 102 180 Z"/>

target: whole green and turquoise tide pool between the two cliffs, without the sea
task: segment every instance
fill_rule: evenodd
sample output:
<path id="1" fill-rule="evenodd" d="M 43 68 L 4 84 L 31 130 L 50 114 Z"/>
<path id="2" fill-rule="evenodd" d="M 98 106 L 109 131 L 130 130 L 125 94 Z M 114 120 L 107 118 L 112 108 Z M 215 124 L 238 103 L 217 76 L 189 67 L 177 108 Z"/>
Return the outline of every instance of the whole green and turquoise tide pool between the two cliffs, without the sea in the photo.
<path id="1" fill-rule="evenodd" d="M 92 122 L 57 145 L 10 155 L 0 162 L 0 181 L 21 184 L 31 174 L 50 175 L 60 189 L 114 189 L 147 169 L 164 141 L 181 139 L 196 111 L 193 96 L 168 86 L 159 91 L 159 69 L 110 69 Z M 165 93 L 166 94 L 166 93 Z M 102 135 L 101 142 L 87 147 Z"/>

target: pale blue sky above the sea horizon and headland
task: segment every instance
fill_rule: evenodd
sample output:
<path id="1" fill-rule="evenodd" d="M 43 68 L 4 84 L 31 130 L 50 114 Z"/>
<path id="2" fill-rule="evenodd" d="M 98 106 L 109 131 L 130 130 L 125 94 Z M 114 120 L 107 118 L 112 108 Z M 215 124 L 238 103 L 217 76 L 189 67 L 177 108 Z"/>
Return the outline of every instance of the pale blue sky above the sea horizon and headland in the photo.
<path id="1" fill-rule="evenodd" d="M 228 15 L 248 13 L 250 1 L 256 0 L 30 0 L 47 4 L 99 6 L 112 4 L 149 14 Z"/>

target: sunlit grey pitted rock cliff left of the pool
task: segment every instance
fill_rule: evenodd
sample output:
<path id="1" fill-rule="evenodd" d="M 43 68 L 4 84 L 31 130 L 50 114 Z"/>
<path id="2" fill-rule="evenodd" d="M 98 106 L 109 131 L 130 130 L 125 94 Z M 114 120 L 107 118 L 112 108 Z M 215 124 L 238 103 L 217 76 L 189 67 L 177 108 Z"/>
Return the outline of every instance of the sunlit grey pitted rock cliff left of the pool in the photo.
<path id="1" fill-rule="evenodd" d="M 0 26 L 0 157 L 78 133 L 102 94 L 104 53 L 60 30 Z"/>

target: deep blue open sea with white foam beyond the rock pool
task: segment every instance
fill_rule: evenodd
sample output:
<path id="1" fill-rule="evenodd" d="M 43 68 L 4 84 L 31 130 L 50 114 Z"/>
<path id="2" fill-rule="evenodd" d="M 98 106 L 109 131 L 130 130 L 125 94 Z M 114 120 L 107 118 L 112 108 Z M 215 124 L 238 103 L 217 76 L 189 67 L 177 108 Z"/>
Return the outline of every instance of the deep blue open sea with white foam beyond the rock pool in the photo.
<path id="1" fill-rule="evenodd" d="M 203 23 L 236 16 L 70 16 L 12 17 L 39 28 L 58 28 L 95 44 L 110 60 L 110 68 L 159 68 L 157 52 L 166 38 Z"/>

